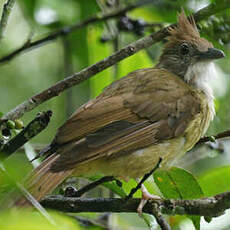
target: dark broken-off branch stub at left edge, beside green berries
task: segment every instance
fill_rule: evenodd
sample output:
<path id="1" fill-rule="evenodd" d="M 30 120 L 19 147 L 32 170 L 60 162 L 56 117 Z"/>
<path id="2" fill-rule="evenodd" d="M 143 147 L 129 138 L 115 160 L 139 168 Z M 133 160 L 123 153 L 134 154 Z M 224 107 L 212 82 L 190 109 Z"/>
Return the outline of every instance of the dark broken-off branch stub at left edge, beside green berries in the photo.
<path id="1" fill-rule="evenodd" d="M 52 112 L 46 111 L 38 113 L 38 115 L 14 138 L 2 146 L 1 159 L 9 157 L 27 141 L 37 136 L 49 124 Z"/>

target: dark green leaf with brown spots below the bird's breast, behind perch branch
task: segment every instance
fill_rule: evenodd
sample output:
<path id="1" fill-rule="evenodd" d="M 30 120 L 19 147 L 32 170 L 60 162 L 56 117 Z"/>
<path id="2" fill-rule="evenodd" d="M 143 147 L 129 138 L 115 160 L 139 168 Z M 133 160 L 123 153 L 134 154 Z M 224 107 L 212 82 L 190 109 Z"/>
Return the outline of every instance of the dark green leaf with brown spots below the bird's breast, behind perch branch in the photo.
<path id="1" fill-rule="evenodd" d="M 165 198 L 196 199 L 204 194 L 196 178 L 188 171 L 173 167 L 154 173 L 154 180 Z M 200 217 L 188 216 L 197 230 L 200 229 Z"/>

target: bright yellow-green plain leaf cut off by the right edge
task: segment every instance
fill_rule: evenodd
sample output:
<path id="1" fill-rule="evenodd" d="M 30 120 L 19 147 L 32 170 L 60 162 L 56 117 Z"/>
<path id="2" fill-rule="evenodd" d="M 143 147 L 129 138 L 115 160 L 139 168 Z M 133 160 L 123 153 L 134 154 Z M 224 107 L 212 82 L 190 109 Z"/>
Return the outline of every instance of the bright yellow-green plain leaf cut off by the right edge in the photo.
<path id="1" fill-rule="evenodd" d="M 202 174 L 199 184 L 205 196 L 213 196 L 230 190 L 230 166 L 211 169 Z"/>

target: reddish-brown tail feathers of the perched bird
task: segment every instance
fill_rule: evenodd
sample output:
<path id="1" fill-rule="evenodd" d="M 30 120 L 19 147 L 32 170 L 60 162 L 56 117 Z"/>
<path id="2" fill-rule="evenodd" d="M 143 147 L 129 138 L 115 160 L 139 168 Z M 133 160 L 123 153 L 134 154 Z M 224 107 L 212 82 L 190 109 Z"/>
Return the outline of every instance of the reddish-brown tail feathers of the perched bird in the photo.
<path id="1" fill-rule="evenodd" d="M 51 155 L 34 169 L 25 180 L 24 187 L 37 200 L 40 201 L 44 196 L 51 193 L 59 184 L 61 184 L 73 170 L 51 172 L 50 167 L 59 155 Z M 16 203 L 17 206 L 26 206 L 29 201 L 25 197 L 20 197 Z"/>

